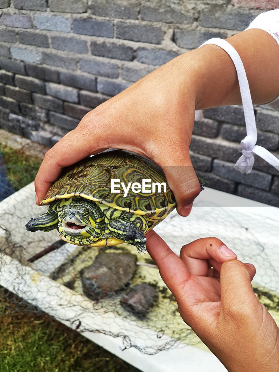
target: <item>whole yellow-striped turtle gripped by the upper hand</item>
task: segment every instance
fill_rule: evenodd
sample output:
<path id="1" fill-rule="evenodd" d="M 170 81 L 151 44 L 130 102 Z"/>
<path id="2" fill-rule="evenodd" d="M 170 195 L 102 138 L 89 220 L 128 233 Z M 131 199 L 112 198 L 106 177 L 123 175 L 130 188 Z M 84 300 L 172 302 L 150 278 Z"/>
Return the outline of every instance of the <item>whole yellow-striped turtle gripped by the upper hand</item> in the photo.
<path id="1" fill-rule="evenodd" d="M 112 180 L 125 186 L 114 190 Z M 158 187 L 149 192 L 130 188 L 125 194 L 130 182 L 142 180 Z M 80 246 L 126 242 L 140 253 L 146 249 L 144 234 L 173 211 L 176 201 L 157 164 L 130 151 L 112 150 L 64 169 L 41 205 L 48 205 L 47 212 L 32 218 L 26 230 L 57 229 L 62 240 Z"/>

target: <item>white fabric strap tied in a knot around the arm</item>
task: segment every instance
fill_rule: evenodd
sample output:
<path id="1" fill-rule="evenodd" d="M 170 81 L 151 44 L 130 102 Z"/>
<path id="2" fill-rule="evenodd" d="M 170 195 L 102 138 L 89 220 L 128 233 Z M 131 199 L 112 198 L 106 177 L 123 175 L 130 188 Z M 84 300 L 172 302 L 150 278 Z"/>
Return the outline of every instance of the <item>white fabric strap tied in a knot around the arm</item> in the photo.
<path id="1" fill-rule="evenodd" d="M 257 154 L 265 161 L 267 161 L 267 163 L 271 164 L 273 167 L 279 170 L 279 159 L 276 158 L 276 156 L 274 156 L 272 153 L 267 151 L 264 147 L 256 145 L 257 128 L 253 103 L 246 72 L 244 70 L 244 66 L 239 54 L 229 42 L 223 39 L 209 39 L 208 41 L 204 42 L 201 47 L 206 44 L 214 44 L 224 49 L 224 51 L 227 52 L 228 55 L 231 57 L 232 62 L 234 62 L 235 69 L 237 71 L 247 136 L 240 143 L 242 155 L 235 163 L 235 169 L 239 170 L 241 173 L 250 173 L 255 161 L 253 154 Z M 202 110 L 196 110 L 195 120 L 202 120 L 202 118 Z"/>

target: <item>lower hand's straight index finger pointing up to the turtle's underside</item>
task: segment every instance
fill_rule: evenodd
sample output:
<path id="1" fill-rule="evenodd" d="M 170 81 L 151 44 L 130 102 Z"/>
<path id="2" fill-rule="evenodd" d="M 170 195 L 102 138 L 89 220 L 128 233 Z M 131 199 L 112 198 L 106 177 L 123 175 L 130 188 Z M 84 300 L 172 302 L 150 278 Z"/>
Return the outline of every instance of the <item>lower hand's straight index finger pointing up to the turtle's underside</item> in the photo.
<path id="1" fill-rule="evenodd" d="M 155 231 L 151 230 L 145 236 L 147 251 L 157 264 L 162 279 L 173 295 L 179 297 L 190 278 L 185 264 Z"/>

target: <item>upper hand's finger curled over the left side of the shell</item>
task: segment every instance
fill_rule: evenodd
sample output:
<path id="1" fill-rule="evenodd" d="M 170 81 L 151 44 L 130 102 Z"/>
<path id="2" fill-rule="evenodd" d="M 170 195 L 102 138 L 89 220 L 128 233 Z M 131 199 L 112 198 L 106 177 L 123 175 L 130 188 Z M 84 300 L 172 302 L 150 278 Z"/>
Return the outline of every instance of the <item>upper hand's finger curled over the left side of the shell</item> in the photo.
<path id="1" fill-rule="evenodd" d="M 44 160 L 35 178 L 35 192 L 38 202 L 41 202 L 49 187 L 57 180 L 62 168 L 102 151 L 104 148 L 97 144 L 91 136 L 86 136 L 82 129 L 73 130 L 64 136 L 45 154 Z"/>

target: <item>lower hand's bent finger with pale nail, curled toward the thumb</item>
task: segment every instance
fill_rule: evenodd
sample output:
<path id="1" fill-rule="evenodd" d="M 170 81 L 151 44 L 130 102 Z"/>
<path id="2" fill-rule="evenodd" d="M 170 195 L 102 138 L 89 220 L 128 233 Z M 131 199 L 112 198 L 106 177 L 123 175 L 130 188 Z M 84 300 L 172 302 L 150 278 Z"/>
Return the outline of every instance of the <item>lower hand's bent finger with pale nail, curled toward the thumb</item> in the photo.
<path id="1" fill-rule="evenodd" d="M 207 276 L 207 260 L 213 258 L 217 263 L 222 264 L 225 261 L 237 259 L 237 256 L 221 240 L 211 237 L 201 238 L 183 246 L 180 251 L 180 258 L 187 266 L 190 274 Z"/>

